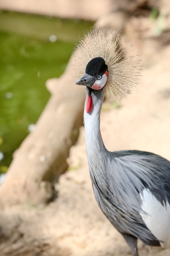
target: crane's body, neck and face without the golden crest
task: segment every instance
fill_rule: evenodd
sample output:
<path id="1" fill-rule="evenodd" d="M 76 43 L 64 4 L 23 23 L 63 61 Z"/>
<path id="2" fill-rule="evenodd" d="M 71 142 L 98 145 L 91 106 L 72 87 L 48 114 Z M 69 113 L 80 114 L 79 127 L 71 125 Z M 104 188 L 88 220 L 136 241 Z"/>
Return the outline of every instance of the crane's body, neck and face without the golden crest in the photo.
<path id="1" fill-rule="evenodd" d="M 84 126 L 95 199 L 126 239 L 132 256 L 138 256 L 137 238 L 146 245 L 170 248 L 170 162 L 144 151 L 110 152 L 105 148 L 100 112 L 109 63 L 98 57 L 87 63 L 85 75 L 76 82 L 86 85 L 87 91 Z M 92 67 L 98 70 L 93 73 Z"/>

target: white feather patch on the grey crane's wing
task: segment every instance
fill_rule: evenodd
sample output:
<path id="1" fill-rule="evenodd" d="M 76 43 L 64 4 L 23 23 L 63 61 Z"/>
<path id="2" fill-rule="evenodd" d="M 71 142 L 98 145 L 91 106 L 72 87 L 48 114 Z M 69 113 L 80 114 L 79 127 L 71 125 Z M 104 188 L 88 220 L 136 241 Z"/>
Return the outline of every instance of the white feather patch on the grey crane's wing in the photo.
<path id="1" fill-rule="evenodd" d="M 162 248 L 170 248 L 170 204 L 162 205 L 149 189 L 140 194 L 144 212 L 140 212 L 141 218 L 152 234 L 162 241 Z M 146 213 L 146 214 L 145 214 Z"/>

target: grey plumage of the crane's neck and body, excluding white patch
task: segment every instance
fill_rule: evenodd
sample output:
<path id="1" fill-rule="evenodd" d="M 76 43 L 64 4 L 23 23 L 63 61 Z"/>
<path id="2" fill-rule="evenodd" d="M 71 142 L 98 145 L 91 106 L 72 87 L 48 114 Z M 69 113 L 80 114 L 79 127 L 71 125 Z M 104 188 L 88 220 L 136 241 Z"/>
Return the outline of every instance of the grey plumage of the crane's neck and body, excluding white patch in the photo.
<path id="1" fill-rule="evenodd" d="M 91 114 L 84 112 L 87 158 L 95 198 L 103 213 L 123 234 L 141 239 L 147 245 L 160 245 L 148 230 L 139 212 L 139 193 L 149 188 L 161 204 L 170 202 L 170 162 L 158 155 L 124 150 L 106 150 L 99 130 L 101 92 L 95 91 Z M 104 90 L 103 90 L 104 95 Z M 99 97 L 99 98 L 98 98 Z M 89 124 L 91 123 L 91 125 Z"/>

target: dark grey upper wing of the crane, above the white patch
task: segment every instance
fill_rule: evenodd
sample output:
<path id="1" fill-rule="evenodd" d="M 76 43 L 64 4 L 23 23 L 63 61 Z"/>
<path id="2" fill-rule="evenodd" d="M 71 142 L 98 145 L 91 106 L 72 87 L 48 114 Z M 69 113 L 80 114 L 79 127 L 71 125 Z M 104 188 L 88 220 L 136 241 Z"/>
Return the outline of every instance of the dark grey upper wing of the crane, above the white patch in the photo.
<path id="1" fill-rule="evenodd" d="M 120 150 L 113 152 L 114 159 L 121 162 L 124 171 L 139 179 L 161 204 L 170 203 L 170 161 L 146 151 Z M 135 180 L 134 180 L 135 182 Z"/>

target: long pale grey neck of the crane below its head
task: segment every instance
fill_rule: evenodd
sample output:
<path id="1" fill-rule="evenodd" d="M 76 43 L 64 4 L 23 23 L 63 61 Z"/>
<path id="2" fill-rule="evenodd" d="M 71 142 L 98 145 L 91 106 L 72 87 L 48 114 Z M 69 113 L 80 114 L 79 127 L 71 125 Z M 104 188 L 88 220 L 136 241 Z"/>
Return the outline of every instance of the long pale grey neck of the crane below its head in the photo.
<path id="1" fill-rule="evenodd" d="M 88 163 L 94 160 L 96 161 L 101 153 L 107 151 L 100 132 L 100 112 L 104 100 L 104 90 L 103 88 L 102 90 L 92 92 L 93 108 L 91 112 L 86 113 L 86 108 L 84 108 L 84 127 Z"/>

